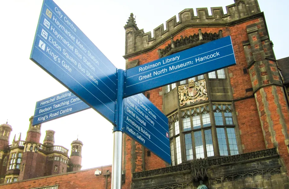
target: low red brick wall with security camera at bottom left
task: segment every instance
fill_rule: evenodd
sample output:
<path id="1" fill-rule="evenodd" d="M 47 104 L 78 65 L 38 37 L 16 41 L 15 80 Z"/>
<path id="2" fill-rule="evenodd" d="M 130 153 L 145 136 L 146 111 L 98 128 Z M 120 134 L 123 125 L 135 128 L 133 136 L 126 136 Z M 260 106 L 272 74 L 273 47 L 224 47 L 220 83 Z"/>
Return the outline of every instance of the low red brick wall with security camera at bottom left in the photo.
<path id="1" fill-rule="evenodd" d="M 37 179 L 30 179 L 26 181 L 11 182 L 9 184 L 2 184 L 0 188 L 5 189 L 30 189 L 34 187 L 45 187 L 51 185 L 58 185 L 60 189 L 70 189 L 70 188 L 85 188 L 85 189 L 105 189 L 105 176 L 99 175 L 96 177 L 94 172 L 96 169 L 87 169 L 83 171 L 77 171 L 67 174 L 60 174 L 56 176 L 48 176 Z M 100 169 L 99 169 L 100 170 Z M 111 172 L 111 166 L 103 167 L 103 173 L 107 170 Z M 111 188 L 111 175 L 108 176 L 108 186 L 107 189 Z"/>

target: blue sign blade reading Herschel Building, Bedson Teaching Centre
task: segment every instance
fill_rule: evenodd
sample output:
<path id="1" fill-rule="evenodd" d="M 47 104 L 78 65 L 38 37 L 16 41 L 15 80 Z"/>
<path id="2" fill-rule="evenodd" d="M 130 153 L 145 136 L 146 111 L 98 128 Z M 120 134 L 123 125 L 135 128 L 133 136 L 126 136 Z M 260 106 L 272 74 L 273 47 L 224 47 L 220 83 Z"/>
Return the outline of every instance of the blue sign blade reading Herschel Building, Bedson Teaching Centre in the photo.
<path id="1" fill-rule="evenodd" d="M 38 125 L 59 117 L 90 108 L 69 90 L 36 102 L 32 125 Z"/>

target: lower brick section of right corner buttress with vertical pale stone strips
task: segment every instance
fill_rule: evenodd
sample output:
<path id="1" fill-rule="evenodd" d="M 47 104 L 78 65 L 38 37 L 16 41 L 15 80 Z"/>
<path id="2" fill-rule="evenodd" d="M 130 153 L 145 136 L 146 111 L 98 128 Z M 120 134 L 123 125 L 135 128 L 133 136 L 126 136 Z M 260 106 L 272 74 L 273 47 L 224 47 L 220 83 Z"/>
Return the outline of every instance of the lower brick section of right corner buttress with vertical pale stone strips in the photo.
<path id="1" fill-rule="evenodd" d="M 259 117 L 267 148 L 278 147 L 281 158 L 289 170 L 288 125 L 289 112 L 281 86 L 263 87 L 255 93 Z"/>

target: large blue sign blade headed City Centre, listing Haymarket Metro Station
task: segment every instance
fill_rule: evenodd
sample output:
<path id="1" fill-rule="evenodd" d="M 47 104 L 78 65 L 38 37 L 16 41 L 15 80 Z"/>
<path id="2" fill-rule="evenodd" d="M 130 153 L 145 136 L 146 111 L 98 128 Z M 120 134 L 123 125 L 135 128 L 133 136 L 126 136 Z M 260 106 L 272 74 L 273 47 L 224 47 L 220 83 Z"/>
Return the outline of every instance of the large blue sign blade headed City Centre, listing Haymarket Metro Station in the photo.
<path id="1" fill-rule="evenodd" d="M 30 59 L 114 123 L 117 68 L 51 0 L 44 0 Z"/>

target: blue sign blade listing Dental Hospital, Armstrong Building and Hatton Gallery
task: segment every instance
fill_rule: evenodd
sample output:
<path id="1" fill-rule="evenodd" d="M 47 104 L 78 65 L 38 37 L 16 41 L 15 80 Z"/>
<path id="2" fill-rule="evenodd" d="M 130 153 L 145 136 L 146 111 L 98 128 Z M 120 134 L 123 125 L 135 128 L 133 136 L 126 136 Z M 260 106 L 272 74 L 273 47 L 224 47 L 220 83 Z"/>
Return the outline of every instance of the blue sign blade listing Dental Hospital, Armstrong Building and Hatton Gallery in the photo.
<path id="1" fill-rule="evenodd" d="M 123 132 L 171 164 L 168 119 L 143 94 L 124 99 Z"/>

